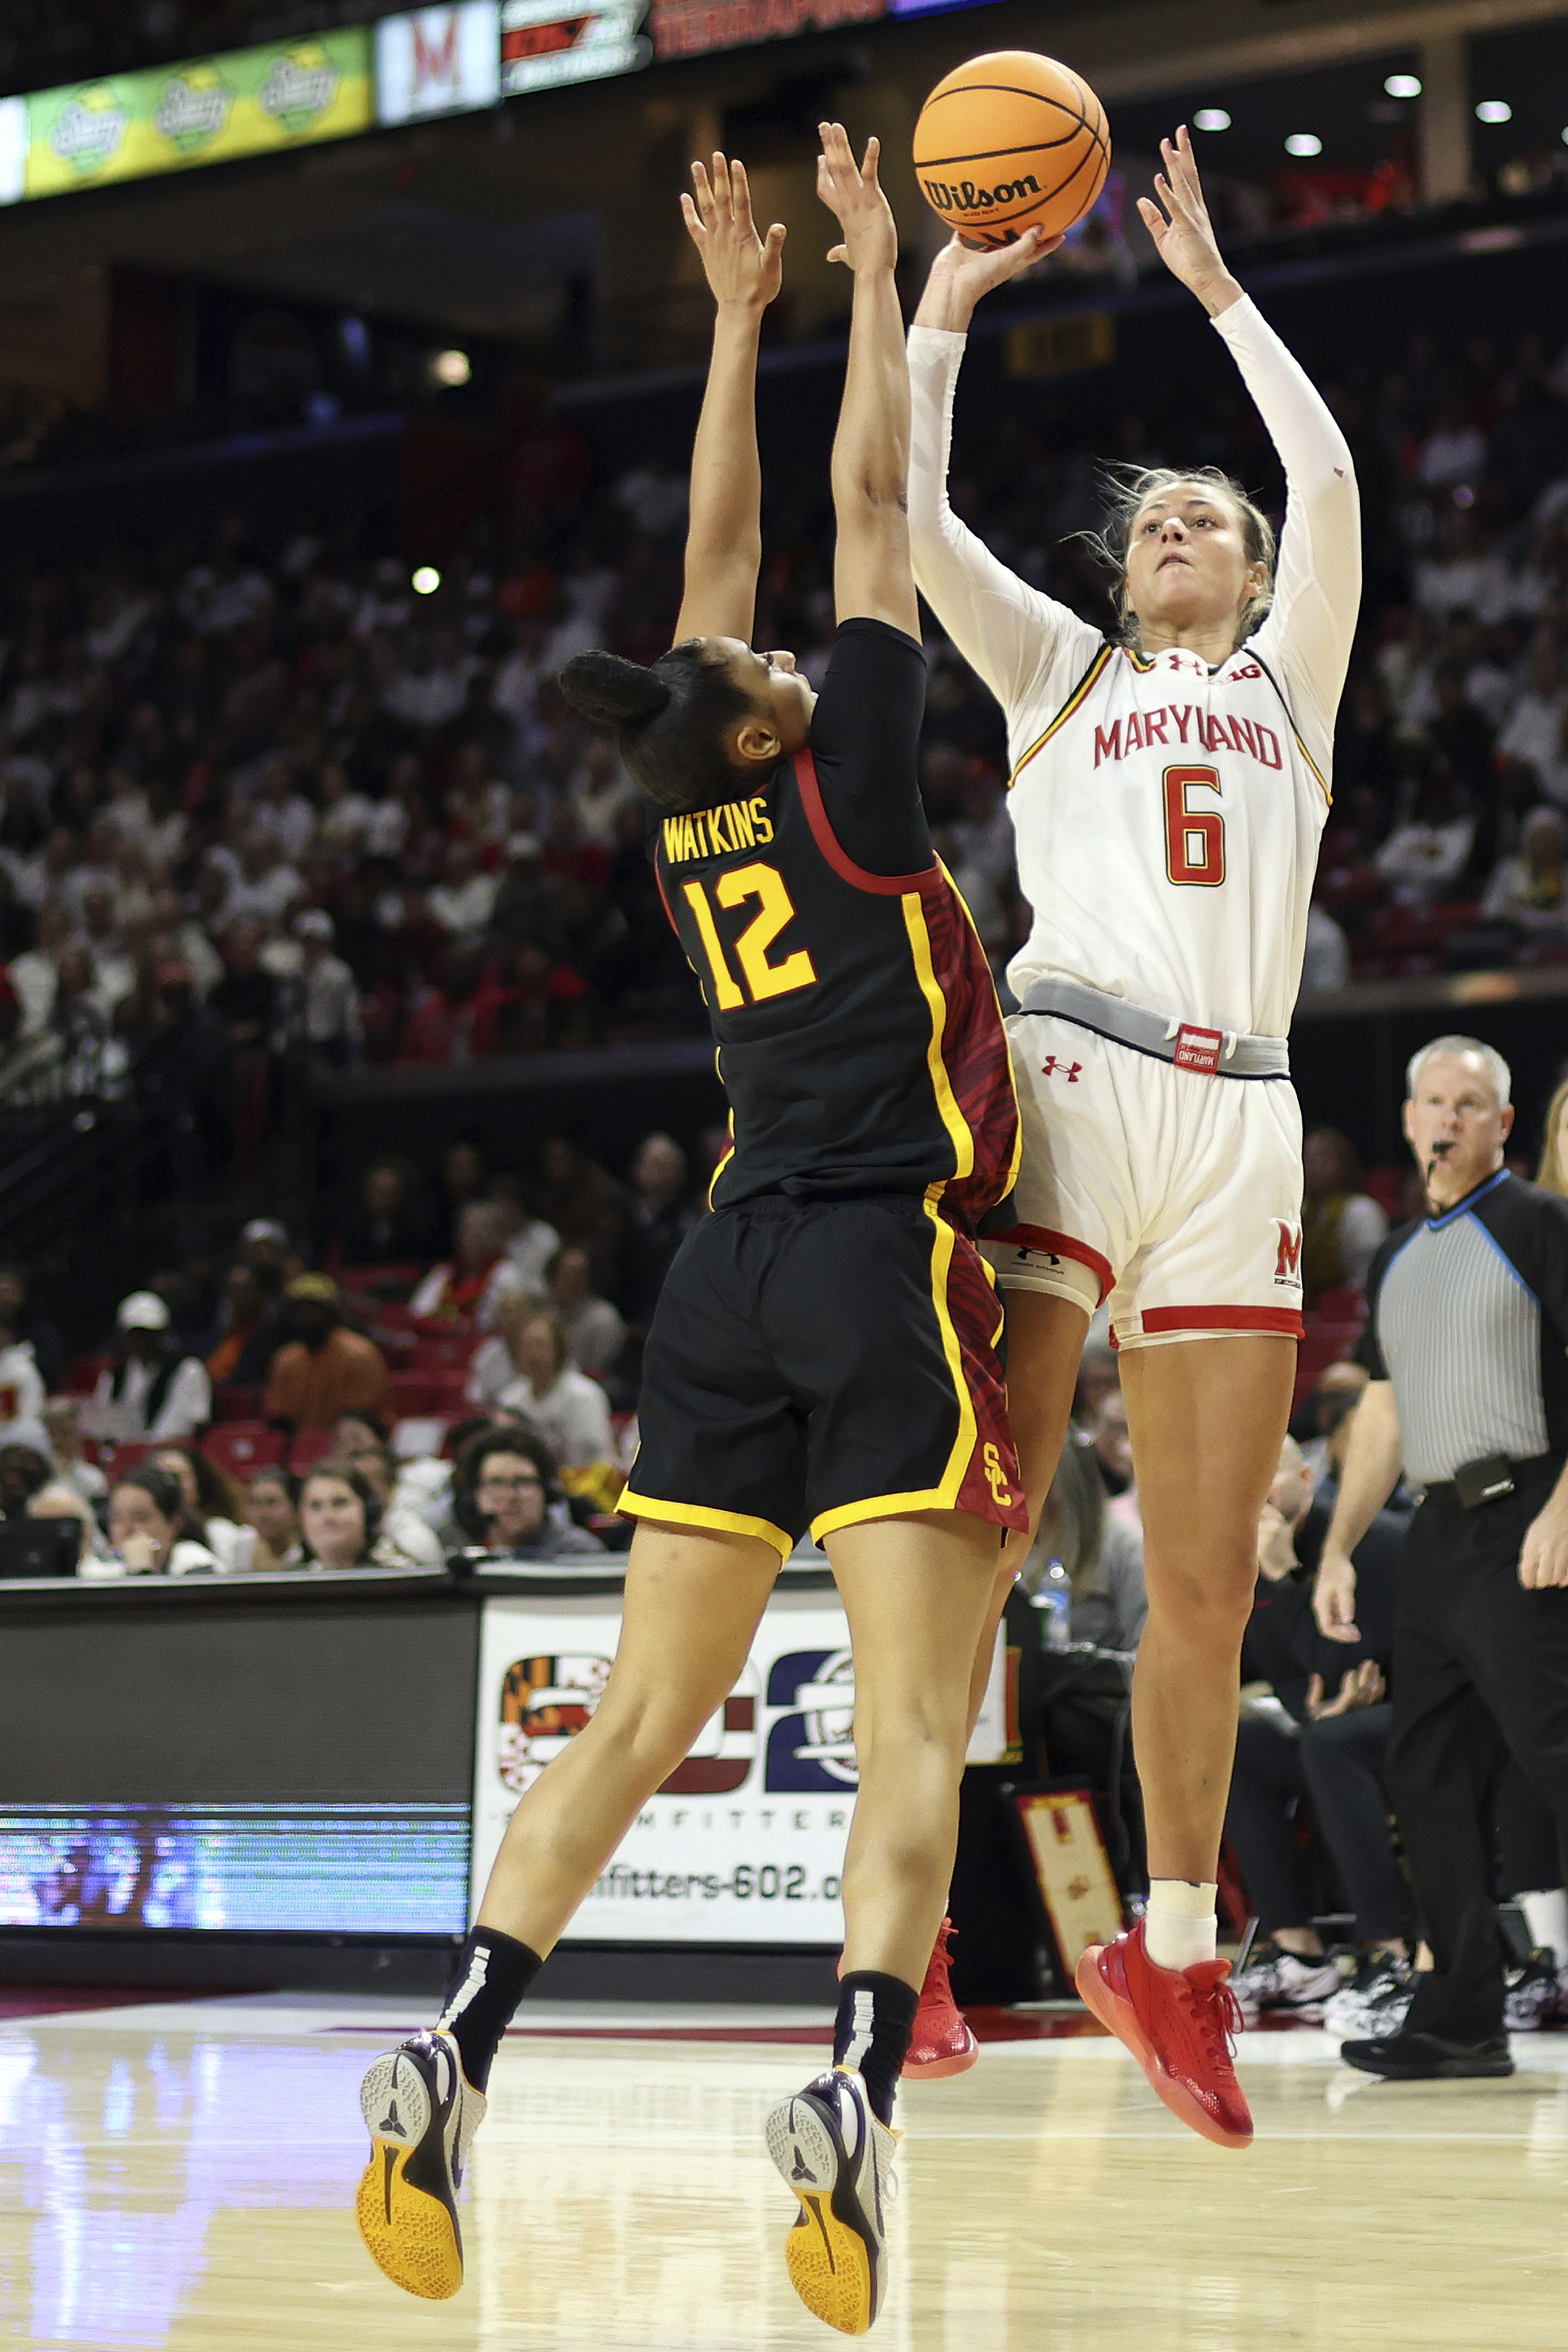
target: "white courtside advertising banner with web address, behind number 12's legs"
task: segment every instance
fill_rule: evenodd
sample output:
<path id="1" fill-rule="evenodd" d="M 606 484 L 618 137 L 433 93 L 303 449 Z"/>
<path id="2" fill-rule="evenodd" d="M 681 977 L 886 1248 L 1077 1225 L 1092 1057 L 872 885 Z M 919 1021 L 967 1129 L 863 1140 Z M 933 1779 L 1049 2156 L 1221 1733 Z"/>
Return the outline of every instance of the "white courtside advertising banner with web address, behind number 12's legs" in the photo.
<path id="1" fill-rule="evenodd" d="M 473 1900 L 512 1806 L 592 1717 L 621 1639 L 614 1597 L 494 1599 L 480 1637 Z M 778 1592 L 691 1755 L 646 1802 L 567 1929 L 576 1943 L 835 1945 L 856 1799 L 856 1684 L 832 1592 Z M 971 1762 L 1009 1755 L 1001 1639 Z"/>

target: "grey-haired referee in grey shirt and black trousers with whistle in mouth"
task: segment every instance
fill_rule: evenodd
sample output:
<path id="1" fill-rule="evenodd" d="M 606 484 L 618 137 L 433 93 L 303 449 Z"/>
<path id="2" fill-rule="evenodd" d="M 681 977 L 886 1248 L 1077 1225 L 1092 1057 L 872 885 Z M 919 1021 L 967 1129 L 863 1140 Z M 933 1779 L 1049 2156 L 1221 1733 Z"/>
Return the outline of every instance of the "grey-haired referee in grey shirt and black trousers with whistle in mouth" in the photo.
<path id="1" fill-rule="evenodd" d="M 1509 1750 L 1568 1844 L 1568 1200 L 1502 1167 L 1509 1091 L 1474 1037 L 1410 1061 L 1403 1131 L 1429 1214 L 1368 1272 L 1371 1385 L 1316 1581 L 1321 1630 L 1354 1642 L 1349 1555 L 1403 1465 L 1425 1501 L 1394 1635 L 1389 1797 L 1436 1971 L 1415 1978 L 1401 2032 L 1340 2051 L 1396 2082 L 1514 2072 L 1490 1851 Z"/>

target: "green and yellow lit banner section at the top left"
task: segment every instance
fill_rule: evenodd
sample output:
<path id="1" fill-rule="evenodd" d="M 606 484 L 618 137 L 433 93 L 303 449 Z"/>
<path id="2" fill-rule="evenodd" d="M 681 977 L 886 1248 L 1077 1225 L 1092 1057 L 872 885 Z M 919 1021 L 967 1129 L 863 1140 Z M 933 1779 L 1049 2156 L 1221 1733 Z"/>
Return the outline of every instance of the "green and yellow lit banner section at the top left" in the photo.
<path id="1" fill-rule="evenodd" d="M 28 195 L 103 188 L 367 132 L 371 33 L 350 26 L 28 99 Z"/>

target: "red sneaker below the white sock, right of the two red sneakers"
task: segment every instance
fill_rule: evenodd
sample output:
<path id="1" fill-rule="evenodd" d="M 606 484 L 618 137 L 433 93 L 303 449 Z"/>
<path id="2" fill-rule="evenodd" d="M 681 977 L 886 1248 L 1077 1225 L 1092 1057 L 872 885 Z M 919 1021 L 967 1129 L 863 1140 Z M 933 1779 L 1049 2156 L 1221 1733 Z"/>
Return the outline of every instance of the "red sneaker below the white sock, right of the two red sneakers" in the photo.
<path id="1" fill-rule="evenodd" d="M 1140 1919 L 1131 1936 L 1088 1945 L 1077 1987 L 1100 2025 L 1126 2042 L 1171 2114 L 1215 2147 L 1251 2147 L 1253 2119 L 1232 2065 L 1241 2011 L 1227 1976 L 1227 1959 L 1157 1966 Z"/>

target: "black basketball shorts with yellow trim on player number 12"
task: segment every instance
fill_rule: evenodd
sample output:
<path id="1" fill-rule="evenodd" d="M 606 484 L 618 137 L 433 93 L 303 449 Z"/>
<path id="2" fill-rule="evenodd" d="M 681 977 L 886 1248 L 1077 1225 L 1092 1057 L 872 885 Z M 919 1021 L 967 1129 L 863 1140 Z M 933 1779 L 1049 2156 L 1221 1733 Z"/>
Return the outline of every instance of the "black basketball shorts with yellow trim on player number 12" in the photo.
<path id="1" fill-rule="evenodd" d="M 1025 1529 L 999 1341 L 990 1268 L 931 1202 L 719 1209 L 654 1315 L 621 1510 L 780 1555 L 912 1510 Z"/>

